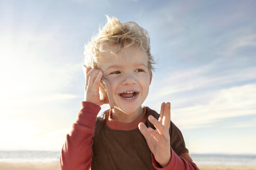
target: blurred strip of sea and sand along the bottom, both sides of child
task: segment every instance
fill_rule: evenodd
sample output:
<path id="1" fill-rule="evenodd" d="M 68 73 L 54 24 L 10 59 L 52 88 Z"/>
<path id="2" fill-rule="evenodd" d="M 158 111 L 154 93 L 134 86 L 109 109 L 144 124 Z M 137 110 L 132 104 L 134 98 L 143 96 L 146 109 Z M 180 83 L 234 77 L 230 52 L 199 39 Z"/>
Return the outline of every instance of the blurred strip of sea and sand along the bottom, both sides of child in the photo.
<path id="1" fill-rule="evenodd" d="M 60 170 L 60 151 L 0 151 L 1 170 Z M 191 154 L 200 170 L 255 170 L 256 155 Z"/>

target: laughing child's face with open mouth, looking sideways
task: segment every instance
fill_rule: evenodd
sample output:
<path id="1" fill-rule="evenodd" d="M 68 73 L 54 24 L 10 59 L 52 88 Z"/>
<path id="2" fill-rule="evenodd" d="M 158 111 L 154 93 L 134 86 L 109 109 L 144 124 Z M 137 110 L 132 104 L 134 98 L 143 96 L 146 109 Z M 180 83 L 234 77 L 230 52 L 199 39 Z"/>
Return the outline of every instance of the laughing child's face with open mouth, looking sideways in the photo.
<path id="1" fill-rule="evenodd" d="M 114 109 L 125 114 L 134 114 L 145 101 L 151 75 L 148 70 L 148 56 L 141 48 L 123 48 L 117 56 L 110 52 L 101 54 L 100 68 L 110 83 Z"/>

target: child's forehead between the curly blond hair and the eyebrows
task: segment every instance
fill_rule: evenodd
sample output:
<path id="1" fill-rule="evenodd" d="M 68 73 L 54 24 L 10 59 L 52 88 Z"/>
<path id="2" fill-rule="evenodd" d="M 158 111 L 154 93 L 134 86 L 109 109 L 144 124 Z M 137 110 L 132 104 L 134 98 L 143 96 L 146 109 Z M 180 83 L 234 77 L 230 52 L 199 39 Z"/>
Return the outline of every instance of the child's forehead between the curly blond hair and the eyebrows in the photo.
<path id="1" fill-rule="evenodd" d="M 114 50 L 113 50 L 114 51 Z M 112 65 L 125 67 L 131 65 L 148 66 L 148 56 L 142 48 L 130 46 L 121 49 L 118 53 L 103 52 L 100 54 L 100 68 L 106 69 Z"/>

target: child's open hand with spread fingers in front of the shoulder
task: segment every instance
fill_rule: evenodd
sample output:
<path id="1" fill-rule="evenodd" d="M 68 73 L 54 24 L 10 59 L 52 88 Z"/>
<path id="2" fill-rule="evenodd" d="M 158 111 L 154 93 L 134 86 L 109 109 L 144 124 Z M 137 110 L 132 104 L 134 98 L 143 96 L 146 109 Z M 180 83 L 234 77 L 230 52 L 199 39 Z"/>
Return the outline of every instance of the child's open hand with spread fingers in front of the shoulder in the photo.
<path id="1" fill-rule="evenodd" d="M 157 120 L 152 116 L 148 117 L 148 120 L 156 127 L 156 130 L 153 130 L 151 127 L 147 128 L 142 122 L 138 125 L 139 131 L 145 137 L 150 151 L 162 167 L 168 165 L 171 159 L 169 134 L 170 117 L 171 104 L 162 103 L 159 119 Z"/>

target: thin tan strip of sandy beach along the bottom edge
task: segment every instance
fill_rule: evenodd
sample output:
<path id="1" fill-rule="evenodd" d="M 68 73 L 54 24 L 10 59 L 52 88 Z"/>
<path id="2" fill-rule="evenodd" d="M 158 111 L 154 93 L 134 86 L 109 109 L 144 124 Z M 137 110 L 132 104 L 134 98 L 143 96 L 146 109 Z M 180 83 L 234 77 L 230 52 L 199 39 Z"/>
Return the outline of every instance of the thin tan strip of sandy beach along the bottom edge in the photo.
<path id="1" fill-rule="evenodd" d="M 256 166 L 198 165 L 200 170 L 255 170 Z M 60 170 L 58 163 L 0 163 L 1 170 Z"/>

